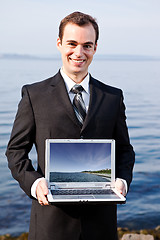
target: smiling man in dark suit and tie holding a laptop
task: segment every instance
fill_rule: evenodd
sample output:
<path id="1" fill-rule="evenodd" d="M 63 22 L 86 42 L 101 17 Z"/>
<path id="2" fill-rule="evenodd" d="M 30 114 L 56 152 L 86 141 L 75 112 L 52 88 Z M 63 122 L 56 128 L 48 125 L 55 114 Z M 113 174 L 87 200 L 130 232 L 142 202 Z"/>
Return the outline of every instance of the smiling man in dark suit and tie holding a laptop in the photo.
<path id="1" fill-rule="evenodd" d="M 123 195 L 128 191 L 134 152 L 125 123 L 122 91 L 88 73 L 98 35 L 98 25 L 91 16 L 75 12 L 65 17 L 57 39 L 61 70 L 54 77 L 22 89 L 6 155 L 13 177 L 33 199 L 29 240 L 117 239 L 116 205 L 49 205 L 44 179 L 45 139 L 115 139 L 115 186 Z M 74 100 L 73 89 L 77 91 L 79 84 L 83 87 L 78 94 L 84 115 Z M 37 170 L 28 158 L 33 144 L 38 155 Z"/>

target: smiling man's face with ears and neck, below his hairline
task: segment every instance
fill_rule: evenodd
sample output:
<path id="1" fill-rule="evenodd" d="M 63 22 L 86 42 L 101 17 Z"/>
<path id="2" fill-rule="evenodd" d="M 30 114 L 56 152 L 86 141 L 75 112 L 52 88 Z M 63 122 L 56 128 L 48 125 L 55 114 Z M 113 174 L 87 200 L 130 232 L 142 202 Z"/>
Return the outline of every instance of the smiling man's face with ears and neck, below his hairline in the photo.
<path id="1" fill-rule="evenodd" d="M 68 23 L 63 38 L 57 39 L 61 52 L 63 71 L 75 82 L 81 82 L 88 73 L 88 66 L 96 52 L 96 33 L 91 24 L 78 26 Z"/>

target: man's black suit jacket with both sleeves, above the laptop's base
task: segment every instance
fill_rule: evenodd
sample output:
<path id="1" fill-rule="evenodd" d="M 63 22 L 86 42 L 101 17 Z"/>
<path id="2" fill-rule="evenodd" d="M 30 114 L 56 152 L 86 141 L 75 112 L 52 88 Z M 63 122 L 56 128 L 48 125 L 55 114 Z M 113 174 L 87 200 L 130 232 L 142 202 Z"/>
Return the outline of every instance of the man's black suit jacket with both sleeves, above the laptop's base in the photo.
<path id="1" fill-rule="evenodd" d="M 6 154 L 13 177 L 29 197 L 32 197 L 33 182 L 44 176 L 47 138 L 115 139 L 116 177 L 125 179 L 129 187 L 134 152 L 125 122 L 122 91 L 93 77 L 89 85 L 90 104 L 82 129 L 60 72 L 45 81 L 23 87 Z M 36 170 L 28 157 L 33 144 L 38 156 Z M 34 204 L 38 203 L 34 201 Z M 33 221 L 31 224 L 35 226 Z"/>

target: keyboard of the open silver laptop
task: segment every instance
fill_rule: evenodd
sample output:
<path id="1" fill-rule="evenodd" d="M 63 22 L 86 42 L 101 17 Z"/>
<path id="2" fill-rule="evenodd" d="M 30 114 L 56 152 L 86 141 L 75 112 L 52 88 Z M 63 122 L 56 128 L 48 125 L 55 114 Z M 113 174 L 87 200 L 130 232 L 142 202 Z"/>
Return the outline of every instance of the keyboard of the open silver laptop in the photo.
<path id="1" fill-rule="evenodd" d="M 114 194 L 111 189 L 56 189 L 51 190 L 53 195 L 88 195 L 88 194 Z"/>

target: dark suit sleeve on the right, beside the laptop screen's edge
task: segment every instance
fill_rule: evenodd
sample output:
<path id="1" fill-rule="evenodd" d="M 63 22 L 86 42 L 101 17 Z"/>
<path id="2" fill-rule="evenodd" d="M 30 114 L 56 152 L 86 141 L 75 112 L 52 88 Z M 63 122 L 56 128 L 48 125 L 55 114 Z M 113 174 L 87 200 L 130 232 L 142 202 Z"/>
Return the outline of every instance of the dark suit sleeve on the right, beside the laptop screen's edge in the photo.
<path id="1" fill-rule="evenodd" d="M 130 144 L 128 128 L 126 125 L 125 105 L 121 95 L 119 114 L 115 127 L 116 139 L 116 177 L 125 179 L 128 185 L 132 181 L 132 172 L 135 162 L 135 153 Z"/>

